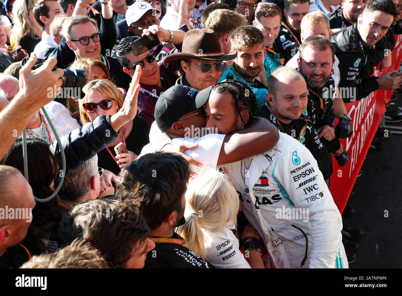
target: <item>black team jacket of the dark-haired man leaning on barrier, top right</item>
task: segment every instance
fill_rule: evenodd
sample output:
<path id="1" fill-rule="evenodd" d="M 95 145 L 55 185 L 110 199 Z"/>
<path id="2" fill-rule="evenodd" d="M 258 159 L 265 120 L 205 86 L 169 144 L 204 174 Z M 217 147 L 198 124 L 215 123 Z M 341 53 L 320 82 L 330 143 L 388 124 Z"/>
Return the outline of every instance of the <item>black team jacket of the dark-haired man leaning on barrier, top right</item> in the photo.
<path id="1" fill-rule="evenodd" d="M 331 38 L 331 42 L 339 59 L 339 87 L 355 90 L 355 97 L 344 97 L 343 101 L 346 103 L 360 100 L 376 91 L 379 88 L 376 81 L 378 77 L 370 77 L 370 73 L 373 72 L 373 62 L 370 60 L 372 57 L 377 58 L 378 51 L 374 47 L 363 46 L 357 31 L 357 23 L 336 34 Z M 384 56 L 384 51 L 382 54 Z"/>

